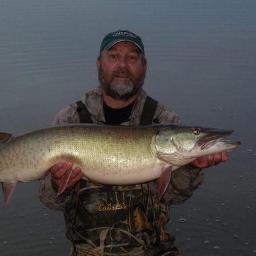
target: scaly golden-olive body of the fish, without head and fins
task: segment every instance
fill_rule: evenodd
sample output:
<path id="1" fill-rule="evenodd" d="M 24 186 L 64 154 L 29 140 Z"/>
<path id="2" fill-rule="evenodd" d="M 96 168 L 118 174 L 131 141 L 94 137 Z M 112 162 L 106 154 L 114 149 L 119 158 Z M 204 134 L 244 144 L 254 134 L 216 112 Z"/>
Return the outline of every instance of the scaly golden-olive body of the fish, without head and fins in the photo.
<path id="1" fill-rule="evenodd" d="M 5 176 L 4 182 L 27 182 L 40 179 L 59 161 L 72 161 L 82 168 L 88 180 L 130 184 L 136 175 L 141 182 L 146 181 L 148 177 L 143 175 L 147 175 L 149 168 L 160 171 L 159 160 L 150 150 L 155 133 L 153 127 L 120 129 L 103 125 L 32 131 L 11 139 L 0 150 L 0 175 Z M 152 172 L 151 176 L 156 179 L 159 174 Z"/>

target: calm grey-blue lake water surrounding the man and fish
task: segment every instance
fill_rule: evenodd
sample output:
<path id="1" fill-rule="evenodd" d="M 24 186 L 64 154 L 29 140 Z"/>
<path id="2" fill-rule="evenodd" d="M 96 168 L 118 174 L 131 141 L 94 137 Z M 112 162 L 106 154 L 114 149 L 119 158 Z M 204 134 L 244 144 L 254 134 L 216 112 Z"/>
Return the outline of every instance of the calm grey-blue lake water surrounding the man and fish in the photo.
<path id="1" fill-rule="evenodd" d="M 103 36 L 132 30 L 146 46 L 149 94 L 185 124 L 234 129 L 243 143 L 171 207 L 181 255 L 256 255 L 255 13 L 255 0 L 1 0 L 0 130 L 51 125 L 98 85 Z M 67 255 L 62 213 L 40 203 L 36 182 L 18 184 L 0 220 L 0 255 Z"/>

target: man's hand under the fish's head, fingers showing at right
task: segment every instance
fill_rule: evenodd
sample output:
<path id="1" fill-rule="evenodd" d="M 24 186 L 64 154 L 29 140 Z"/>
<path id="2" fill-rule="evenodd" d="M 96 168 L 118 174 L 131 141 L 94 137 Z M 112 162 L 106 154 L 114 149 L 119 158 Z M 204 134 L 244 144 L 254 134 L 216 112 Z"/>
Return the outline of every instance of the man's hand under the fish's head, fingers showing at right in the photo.
<path id="1" fill-rule="evenodd" d="M 193 160 L 190 164 L 197 168 L 207 168 L 220 164 L 220 162 L 226 162 L 228 160 L 228 153 L 222 152 L 211 156 L 200 156 Z"/>

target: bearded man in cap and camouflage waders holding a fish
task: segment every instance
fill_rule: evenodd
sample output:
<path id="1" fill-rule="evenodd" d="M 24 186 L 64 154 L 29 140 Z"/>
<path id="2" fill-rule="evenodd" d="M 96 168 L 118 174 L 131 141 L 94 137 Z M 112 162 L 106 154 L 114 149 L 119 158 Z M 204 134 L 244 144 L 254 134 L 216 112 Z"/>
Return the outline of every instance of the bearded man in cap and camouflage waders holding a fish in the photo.
<path id="1" fill-rule="evenodd" d="M 147 61 L 141 38 L 129 30 L 107 34 L 97 59 L 100 86 L 82 102 L 63 108 L 55 124 L 100 123 L 102 125 L 150 125 L 177 123 L 179 117 L 141 89 Z M 111 150 L 111 149 L 110 149 Z M 203 179 L 201 168 L 228 159 L 226 153 L 201 157 L 172 173 L 160 200 L 156 181 L 129 186 L 110 186 L 82 180 L 76 167 L 66 191 L 59 185 L 73 166 L 59 162 L 39 182 L 42 203 L 63 210 L 69 255 L 179 255 L 174 236 L 166 232 L 168 205 L 182 203 Z"/>

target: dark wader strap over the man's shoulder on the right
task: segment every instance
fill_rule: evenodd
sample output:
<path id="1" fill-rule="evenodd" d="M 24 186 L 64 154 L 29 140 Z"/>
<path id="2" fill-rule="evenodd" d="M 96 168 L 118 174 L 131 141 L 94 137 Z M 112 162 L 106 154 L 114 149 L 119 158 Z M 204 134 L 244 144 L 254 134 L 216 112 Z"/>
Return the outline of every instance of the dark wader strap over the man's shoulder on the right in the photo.
<path id="1" fill-rule="evenodd" d="M 156 112 L 157 104 L 158 104 L 158 102 L 156 100 L 154 100 L 150 96 L 147 96 L 146 101 L 143 106 L 139 125 L 152 125 L 152 123 L 158 123 L 157 118 L 155 118 L 153 120 L 153 117 Z"/>

